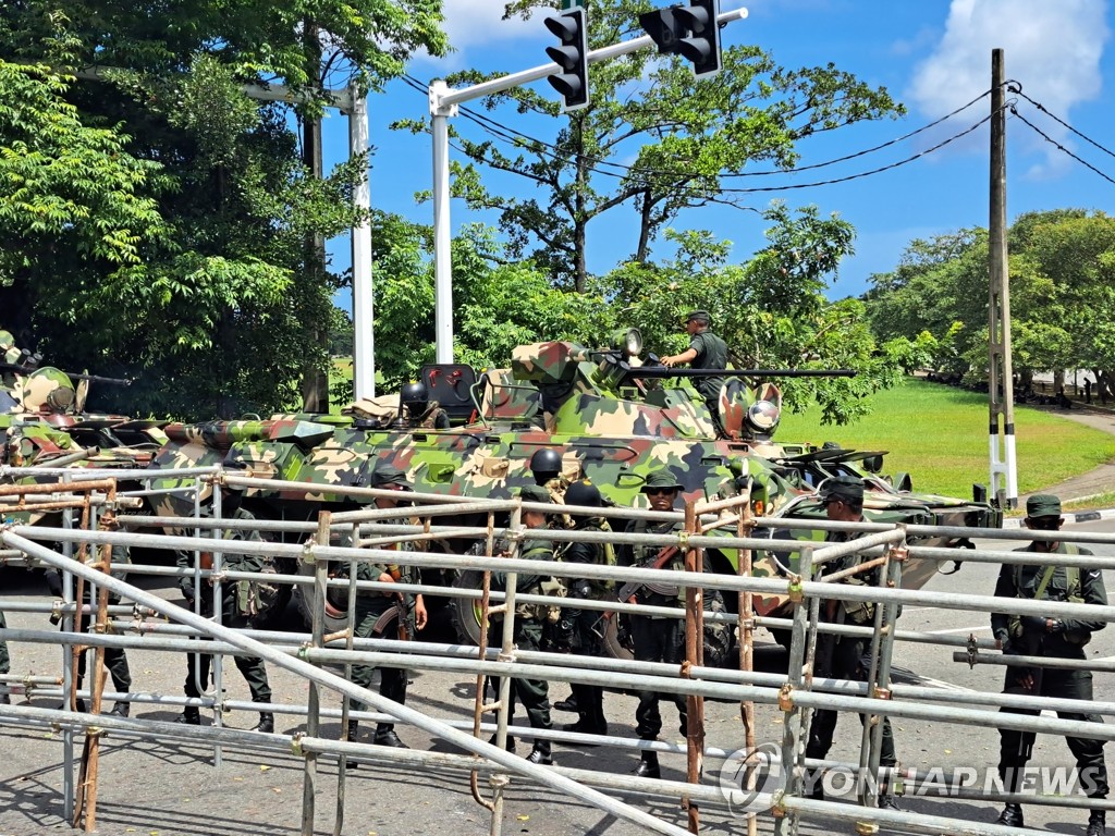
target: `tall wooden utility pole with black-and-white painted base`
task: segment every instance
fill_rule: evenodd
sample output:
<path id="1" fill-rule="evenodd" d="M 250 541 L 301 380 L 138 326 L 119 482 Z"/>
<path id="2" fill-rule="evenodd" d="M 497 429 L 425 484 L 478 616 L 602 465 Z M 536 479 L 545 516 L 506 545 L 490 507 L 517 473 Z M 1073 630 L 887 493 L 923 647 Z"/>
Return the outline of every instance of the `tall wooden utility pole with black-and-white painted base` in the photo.
<path id="1" fill-rule="evenodd" d="M 991 198 L 988 221 L 988 398 L 991 496 L 1000 508 L 1018 506 L 1015 458 L 1015 378 L 1010 362 L 1010 279 L 1007 263 L 1007 111 L 1001 49 L 991 50 Z M 1000 432 L 1001 430 L 1001 432 Z"/>

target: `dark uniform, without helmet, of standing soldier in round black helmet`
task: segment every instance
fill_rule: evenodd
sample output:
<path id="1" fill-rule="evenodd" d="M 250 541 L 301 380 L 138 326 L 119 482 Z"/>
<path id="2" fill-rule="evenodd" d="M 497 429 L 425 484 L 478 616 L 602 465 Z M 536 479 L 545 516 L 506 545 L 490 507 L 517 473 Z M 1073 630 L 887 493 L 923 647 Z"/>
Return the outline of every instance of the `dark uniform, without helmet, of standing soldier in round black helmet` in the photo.
<path id="1" fill-rule="evenodd" d="M 574 525 L 575 531 L 611 532 L 608 521 L 603 517 L 581 517 Z M 607 563 L 604 545 L 601 543 L 569 543 L 559 554 L 563 563 L 583 563 L 590 566 L 602 566 Z M 568 577 L 570 599 L 590 599 L 602 601 L 611 596 L 610 585 L 602 581 L 588 581 Z M 582 655 L 602 657 L 604 613 L 600 610 L 579 610 L 574 606 L 562 607 L 562 640 L 559 644 L 569 644 Z M 559 650 L 564 648 L 559 647 Z M 580 718 L 575 723 L 565 727 L 566 731 L 579 731 L 589 735 L 608 732 L 608 721 L 604 718 L 604 689 L 600 686 L 589 686 L 573 682 L 570 684 L 573 701 Z"/>

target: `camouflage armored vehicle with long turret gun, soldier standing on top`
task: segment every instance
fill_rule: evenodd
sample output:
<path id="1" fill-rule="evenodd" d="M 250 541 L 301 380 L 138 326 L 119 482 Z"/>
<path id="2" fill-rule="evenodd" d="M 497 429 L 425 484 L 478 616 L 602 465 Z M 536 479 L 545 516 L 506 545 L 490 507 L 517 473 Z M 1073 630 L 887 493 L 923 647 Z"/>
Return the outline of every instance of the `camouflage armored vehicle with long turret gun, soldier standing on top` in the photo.
<path id="1" fill-rule="evenodd" d="M 566 480 L 590 478 L 617 505 L 644 505 L 643 480 L 665 467 L 683 486 L 685 499 L 736 495 L 747 487 L 756 514 L 795 507 L 808 516 L 806 498 L 813 488 L 787 461 L 812 448 L 773 440 L 778 389 L 770 382 L 750 387 L 740 376 L 826 372 L 706 372 L 729 376 L 719 402 L 727 437 L 718 438 L 704 398 L 687 380 L 702 372 L 665 369 L 652 356 L 640 361 L 640 342 L 632 331 L 621 350 L 593 351 L 559 341 L 521 346 L 510 369 L 479 375 L 464 364 L 425 367 L 421 382 L 450 417 L 445 430 L 410 427 L 406 408 L 391 398 L 358 402 L 339 417 L 172 424 L 165 427 L 169 441 L 152 467 L 235 463 L 252 476 L 307 483 L 298 489 L 250 489 L 243 500 L 258 517 L 306 521 L 322 508 L 355 507 L 330 487 L 367 486 L 380 461 L 405 470 L 419 493 L 501 498 L 534 484 L 531 457 L 549 449 L 560 454 Z M 174 485 L 166 479 L 156 487 Z M 866 514 L 873 519 L 933 523 L 947 513 L 951 521 L 953 502 L 971 524 L 992 524 L 995 512 L 986 503 L 937 503 L 890 489 L 871 493 Z M 193 504 L 166 494 L 158 511 L 185 516 Z M 471 545 L 438 544 L 453 553 Z M 716 571 L 735 571 L 730 550 L 710 550 L 707 560 Z M 760 561 L 754 573 L 777 571 L 774 562 Z M 473 581 L 443 579 L 465 585 Z M 757 601 L 756 610 L 766 615 L 786 604 L 780 596 L 769 596 Z M 473 632 L 475 616 L 466 606 L 460 622 Z"/>

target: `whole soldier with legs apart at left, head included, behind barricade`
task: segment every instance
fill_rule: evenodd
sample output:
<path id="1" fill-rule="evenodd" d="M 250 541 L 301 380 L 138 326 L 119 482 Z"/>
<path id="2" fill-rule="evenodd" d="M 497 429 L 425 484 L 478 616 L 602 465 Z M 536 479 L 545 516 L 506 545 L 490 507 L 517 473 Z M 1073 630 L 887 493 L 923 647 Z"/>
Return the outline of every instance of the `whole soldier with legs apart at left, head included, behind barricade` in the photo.
<path id="1" fill-rule="evenodd" d="M 221 490 L 221 513 L 229 521 L 253 521 L 255 517 L 251 512 L 242 507 L 241 489 L 222 484 Z M 204 506 L 203 517 L 213 516 L 212 506 Z M 262 543 L 263 538 L 258 531 L 244 531 L 226 528 L 224 531 L 225 541 L 243 541 L 248 543 Z M 202 552 L 202 566 L 209 563 L 212 566 L 213 555 L 211 552 Z M 260 554 L 235 554 L 224 552 L 222 555 L 221 568 L 230 572 L 261 572 L 266 558 Z M 180 568 L 193 568 L 193 553 L 178 552 Z M 213 618 L 213 593 L 212 580 L 206 580 L 202 586 L 200 614 Z M 186 604 L 193 609 L 195 604 L 194 576 L 183 575 L 178 579 L 178 589 L 186 597 Z M 244 630 L 251 626 L 251 619 L 254 615 L 254 585 L 251 581 L 225 581 L 222 584 L 221 596 L 221 623 L 233 630 Z M 252 702 L 270 704 L 271 686 L 268 683 L 268 671 L 263 665 L 263 660 L 256 657 L 233 657 L 236 668 L 248 682 L 248 689 L 252 694 Z M 210 670 L 213 658 L 205 653 L 186 654 L 186 697 L 201 697 L 198 680 L 204 683 L 210 681 Z M 201 725 L 201 712 L 196 706 L 187 706 L 175 722 L 188 723 L 191 726 Z M 274 731 L 274 715 L 270 711 L 260 712 L 260 721 L 252 727 L 251 731 L 261 731 L 270 735 Z"/>

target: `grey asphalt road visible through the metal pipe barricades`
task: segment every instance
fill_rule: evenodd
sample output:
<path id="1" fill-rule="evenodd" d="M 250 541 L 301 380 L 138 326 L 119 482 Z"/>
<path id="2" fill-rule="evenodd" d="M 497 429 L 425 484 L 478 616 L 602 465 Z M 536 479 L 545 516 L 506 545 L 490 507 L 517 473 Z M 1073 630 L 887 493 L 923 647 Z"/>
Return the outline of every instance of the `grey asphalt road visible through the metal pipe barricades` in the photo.
<path id="1" fill-rule="evenodd" d="M 1098 522 L 1079 529 L 1115 532 L 1115 523 Z M 1099 554 L 1115 556 L 1115 550 L 1096 547 Z M 996 566 L 967 564 L 954 575 L 939 575 L 929 589 L 990 594 L 995 586 Z M 1115 576 L 1105 573 L 1109 590 L 1115 589 Z M 46 590 L 29 583 L 20 573 L 8 571 L 0 575 L 4 597 L 47 600 Z M 162 582 L 145 583 L 161 591 L 171 600 L 177 593 Z M 45 626 L 39 614 L 10 613 L 12 628 Z M 435 625 L 435 630 L 438 625 Z M 989 636 L 986 616 L 973 613 L 908 606 L 900 626 L 978 636 Z M 444 634 L 443 634 L 444 638 Z M 1115 655 L 1115 630 L 1098 633 L 1088 645 L 1089 657 Z M 16 672 L 57 672 L 59 651 L 55 647 L 12 645 Z M 181 693 L 185 662 L 181 654 L 153 651 L 129 652 L 134 688 L 156 693 Z M 1002 680 L 1001 668 L 969 669 L 952 661 L 952 649 L 923 644 L 902 647 L 895 663 L 900 679 L 924 680 L 941 683 L 942 688 L 973 689 L 997 692 Z M 785 655 L 774 645 L 757 653 L 758 668 L 769 671 L 784 669 Z M 302 704 L 307 688 L 283 671 L 271 670 L 275 701 L 280 704 Z M 1096 699 L 1115 699 L 1109 675 L 1097 674 Z M 248 699 L 248 689 L 230 664 L 225 678 L 232 699 Z M 466 720 L 472 713 L 474 681 L 471 677 L 449 673 L 416 675 L 410 687 L 408 706 L 419 708 L 434 717 Z M 568 693 L 566 687 L 555 684 L 551 699 Z M 22 698 L 16 700 L 22 703 Z M 32 704 L 54 707 L 55 700 L 39 698 Z M 336 706 L 336 698 L 327 697 L 326 704 Z M 944 703 L 948 704 L 948 703 Z M 636 699 L 621 693 L 609 693 L 605 712 L 612 733 L 633 738 Z M 739 707 L 736 703 L 709 703 L 707 713 L 707 742 L 709 746 L 734 750 L 743 745 Z M 782 715 L 772 706 L 756 709 L 758 741 L 780 742 Z M 176 710 L 155 706 L 136 707 L 134 717 L 151 720 L 172 720 Z M 675 711 L 663 704 L 666 729 L 676 729 Z M 570 722 L 572 715 L 554 712 L 556 722 Z M 255 721 L 253 715 L 237 713 L 226 722 L 248 728 Z M 520 722 L 525 722 L 520 718 Z M 277 715 L 279 732 L 290 735 L 302 729 L 301 720 L 293 715 Z M 367 726 L 368 723 L 366 723 Z M 322 735 L 337 735 L 338 725 L 329 721 Z M 400 728 L 403 739 L 415 749 L 450 751 L 444 741 L 432 740 L 413 728 Z M 72 830 L 61 819 L 62 800 L 62 745 L 61 737 L 45 729 L 3 727 L 3 759 L 0 762 L 0 836 L 12 834 L 61 833 Z M 918 769 L 931 767 L 971 767 L 992 769 L 998 757 L 998 732 L 990 723 L 976 727 L 899 721 L 895 723 L 899 758 L 903 766 Z M 681 742 L 679 736 L 665 738 Z M 836 746 L 830 757 L 842 760 L 856 758 L 860 723 L 855 717 L 842 717 L 836 731 Z M 520 751 L 526 747 L 520 743 Z M 618 776 L 630 775 L 638 756 L 631 750 L 604 748 L 555 748 L 555 764 L 560 767 L 598 769 Z M 1063 738 L 1040 736 L 1035 749 L 1037 766 L 1069 766 L 1072 756 Z M 685 774 L 685 756 L 662 757 L 663 777 L 680 779 Z M 707 761 L 708 780 L 716 778 L 718 761 Z M 330 758 L 320 761 L 317 785 L 316 834 L 333 833 L 337 804 L 337 765 Z M 301 832 L 302 816 L 302 760 L 292 754 L 225 751 L 220 767 L 213 766 L 212 748 L 181 740 L 142 741 L 109 735 L 101 742 L 100 777 L 98 787 L 97 823 L 101 834 L 147 834 L 151 836 L 248 836 L 250 834 L 292 835 Z M 487 781 L 481 788 L 489 794 Z M 629 799 L 655 815 L 685 827 L 686 813 L 677 804 L 655 801 L 646 797 Z M 535 836 L 564 836 L 568 834 L 599 834 L 603 836 L 634 836 L 644 830 L 619 822 L 609 815 L 572 800 L 540 786 L 514 779 L 506 796 L 503 816 L 504 834 L 534 834 Z M 997 809 L 980 801 L 942 800 L 934 798 L 903 798 L 903 808 L 930 815 L 954 816 L 972 822 L 992 822 Z M 1051 833 L 1082 833 L 1087 816 L 1083 811 L 1056 808 L 1027 807 L 1027 823 Z M 443 768 L 419 770 L 390 761 L 361 765 L 350 774 L 346 785 L 345 824 L 342 834 L 366 836 L 377 834 L 452 833 L 472 836 L 489 833 L 489 814 L 477 805 L 469 793 L 467 774 Z M 707 807 L 701 810 L 702 829 L 708 833 L 746 833 L 739 816 L 724 808 Z M 759 820 L 759 832 L 770 833 L 769 816 Z M 852 825 L 833 824 L 817 818 L 806 822 L 803 834 L 854 833 Z M 901 830 L 883 829 L 883 833 Z"/>

